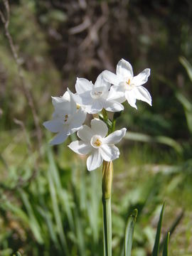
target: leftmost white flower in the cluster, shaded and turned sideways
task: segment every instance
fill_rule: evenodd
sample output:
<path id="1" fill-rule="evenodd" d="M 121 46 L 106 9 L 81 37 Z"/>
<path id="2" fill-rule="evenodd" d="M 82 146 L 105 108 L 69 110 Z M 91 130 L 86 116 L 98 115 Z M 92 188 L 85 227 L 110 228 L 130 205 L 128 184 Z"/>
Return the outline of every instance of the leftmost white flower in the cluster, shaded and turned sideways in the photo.
<path id="1" fill-rule="evenodd" d="M 58 132 L 50 144 L 60 144 L 82 127 L 86 112 L 76 104 L 69 92 L 65 92 L 62 97 L 52 97 L 52 103 L 55 107 L 53 119 L 43 125 L 50 132 Z"/>

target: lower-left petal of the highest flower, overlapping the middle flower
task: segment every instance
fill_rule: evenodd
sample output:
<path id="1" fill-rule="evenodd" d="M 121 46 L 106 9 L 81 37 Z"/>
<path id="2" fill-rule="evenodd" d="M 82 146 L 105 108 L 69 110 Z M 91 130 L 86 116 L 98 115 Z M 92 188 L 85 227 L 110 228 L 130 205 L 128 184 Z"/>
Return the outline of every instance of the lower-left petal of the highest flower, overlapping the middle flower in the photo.
<path id="1" fill-rule="evenodd" d="M 107 100 L 116 100 L 119 103 L 122 103 L 126 100 L 126 98 L 124 97 L 124 86 L 122 85 L 113 85 L 110 88 L 110 92 L 109 95 L 107 97 Z"/>

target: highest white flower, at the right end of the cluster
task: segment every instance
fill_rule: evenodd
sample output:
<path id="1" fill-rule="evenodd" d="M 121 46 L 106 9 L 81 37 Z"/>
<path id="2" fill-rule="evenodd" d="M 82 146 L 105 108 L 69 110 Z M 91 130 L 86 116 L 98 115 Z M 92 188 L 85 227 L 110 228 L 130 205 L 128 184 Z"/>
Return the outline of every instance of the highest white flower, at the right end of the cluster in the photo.
<path id="1" fill-rule="evenodd" d="M 113 85 L 108 97 L 109 100 L 118 100 L 120 103 L 127 100 L 129 105 L 136 109 L 136 100 L 142 100 L 151 105 L 151 95 L 148 90 L 142 86 L 149 78 L 149 68 L 143 70 L 139 75 L 134 76 L 132 65 L 122 59 L 119 60 L 117 64 L 116 74 L 117 75 L 108 70 L 102 72 L 105 80 Z"/>

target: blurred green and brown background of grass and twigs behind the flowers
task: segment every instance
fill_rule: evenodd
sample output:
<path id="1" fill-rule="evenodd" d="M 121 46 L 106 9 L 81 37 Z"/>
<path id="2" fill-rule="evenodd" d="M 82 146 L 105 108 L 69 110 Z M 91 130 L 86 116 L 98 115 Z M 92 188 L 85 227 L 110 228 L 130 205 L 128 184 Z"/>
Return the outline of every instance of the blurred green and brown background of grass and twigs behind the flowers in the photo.
<path id="1" fill-rule="evenodd" d="M 169 255 L 192 255 L 192 2 L 0 1 L 0 255 L 102 255 L 102 170 L 49 146 L 50 96 L 124 58 L 151 68 L 153 106 L 126 104 L 114 161 L 113 255 L 138 208 L 134 256 L 151 254 L 162 203 Z M 18 54 L 18 55 L 17 55 Z"/>

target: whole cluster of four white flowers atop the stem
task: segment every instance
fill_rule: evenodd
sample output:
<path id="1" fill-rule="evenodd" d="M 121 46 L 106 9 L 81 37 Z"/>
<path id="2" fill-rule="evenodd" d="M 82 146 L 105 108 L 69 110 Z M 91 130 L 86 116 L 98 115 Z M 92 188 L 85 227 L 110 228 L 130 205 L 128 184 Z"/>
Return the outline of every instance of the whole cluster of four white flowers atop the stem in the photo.
<path id="1" fill-rule="evenodd" d="M 80 140 L 71 142 L 69 147 L 78 154 L 90 154 L 87 157 L 89 171 L 99 167 L 103 160 L 117 159 L 119 149 L 114 144 L 121 141 L 126 129 L 112 132 L 107 127 L 106 118 L 99 119 L 99 113 L 120 112 L 124 110 L 122 103 L 126 100 L 136 109 L 136 100 L 151 105 L 151 95 L 142 86 L 149 75 L 150 69 L 146 68 L 134 76 L 132 65 L 122 59 L 117 64 L 116 74 L 105 70 L 95 84 L 85 78 L 77 78 L 75 94 L 68 89 L 62 97 L 52 97 L 53 119 L 43 123 L 50 132 L 57 133 L 50 144 L 63 143 L 70 134 L 77 132 Z M 91 120 L 91 127 L 82 125 L 87 113 L 98 117 Z"/>

